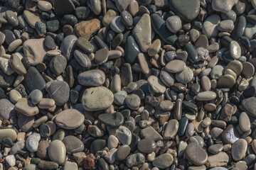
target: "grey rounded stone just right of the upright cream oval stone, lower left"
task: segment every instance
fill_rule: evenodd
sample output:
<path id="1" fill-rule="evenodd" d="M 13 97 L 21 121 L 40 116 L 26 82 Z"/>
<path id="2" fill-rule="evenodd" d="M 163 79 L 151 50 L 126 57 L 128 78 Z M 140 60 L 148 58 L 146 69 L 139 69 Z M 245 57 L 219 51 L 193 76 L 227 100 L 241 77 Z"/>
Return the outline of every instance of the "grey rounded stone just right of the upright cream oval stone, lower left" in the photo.
<path id="1" fill-rule="evenodd" d="M 72 135 L 64 137 L 62 142 L 65 145 L 67 154 L 82 152 L 85 149 L 82 141 Z"/>

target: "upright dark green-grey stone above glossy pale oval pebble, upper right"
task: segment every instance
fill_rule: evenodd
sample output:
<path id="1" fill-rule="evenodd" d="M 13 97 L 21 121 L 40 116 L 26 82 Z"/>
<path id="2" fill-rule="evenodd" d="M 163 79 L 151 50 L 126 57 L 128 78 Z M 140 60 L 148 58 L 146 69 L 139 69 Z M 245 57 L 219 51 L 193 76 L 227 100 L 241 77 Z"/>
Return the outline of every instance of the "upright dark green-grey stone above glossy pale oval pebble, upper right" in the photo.
<path id="1" fill-rule="evenodd" d="M 240 16 L 235 21 L 235 28 L 231 33 L 231 37 L 238 40 L 245 33 L 246 19 L 245 16 Z"/>

